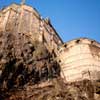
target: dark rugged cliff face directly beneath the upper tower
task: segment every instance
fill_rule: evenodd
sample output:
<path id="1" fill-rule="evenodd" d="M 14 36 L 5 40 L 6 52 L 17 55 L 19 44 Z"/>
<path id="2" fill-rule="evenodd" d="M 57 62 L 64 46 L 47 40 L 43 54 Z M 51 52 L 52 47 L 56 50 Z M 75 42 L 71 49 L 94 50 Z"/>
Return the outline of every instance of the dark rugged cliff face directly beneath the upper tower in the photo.
<path id="1" fill-rule="evenodd" d="M 47 80 L 49 72 L 55 73 L 52 68 L 56 67 L 56 62 L 43 44 L 33 44 L 21 33 L 16 35 L 2 33 L 0 83 L 3 89 L 18 87 L 30 80 L 33 83 Z"/>

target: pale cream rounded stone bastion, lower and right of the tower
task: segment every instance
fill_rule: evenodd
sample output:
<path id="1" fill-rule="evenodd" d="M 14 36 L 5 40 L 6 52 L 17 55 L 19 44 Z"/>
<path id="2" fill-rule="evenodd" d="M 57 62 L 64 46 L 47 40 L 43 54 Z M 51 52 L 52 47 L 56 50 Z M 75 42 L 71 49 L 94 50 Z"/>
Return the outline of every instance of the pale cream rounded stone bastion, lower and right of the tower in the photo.
<path id="1" fill-rule="evenodd" d="M 65 43 L 57 57 L 66 81 L 100 78 L 100 44 L 81 38 Z"/>

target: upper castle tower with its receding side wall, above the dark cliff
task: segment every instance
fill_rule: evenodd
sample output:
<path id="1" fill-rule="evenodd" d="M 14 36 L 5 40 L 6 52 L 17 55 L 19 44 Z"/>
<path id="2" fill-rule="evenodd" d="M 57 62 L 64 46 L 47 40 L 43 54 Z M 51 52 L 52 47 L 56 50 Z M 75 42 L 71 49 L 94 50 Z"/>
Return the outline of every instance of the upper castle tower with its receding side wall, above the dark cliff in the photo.
<path id="1" fill-rule="evenodd" d="M 12 4 L 0 11 L 0 33 L 23 33 L 31 41 L 43 42 L 50 52 L 57 53 L 63 42 L 48 19 L 42 19 L 35 8 Z"/>

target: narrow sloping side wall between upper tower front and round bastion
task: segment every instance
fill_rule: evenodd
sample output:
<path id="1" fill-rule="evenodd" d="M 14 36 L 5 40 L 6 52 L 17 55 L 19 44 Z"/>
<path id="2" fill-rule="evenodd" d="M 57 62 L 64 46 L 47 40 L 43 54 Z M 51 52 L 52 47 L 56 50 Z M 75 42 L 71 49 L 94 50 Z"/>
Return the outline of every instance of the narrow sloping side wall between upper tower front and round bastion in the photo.
<path id="1" fill-rule="evenodd" d="M 45 20 L 42 20 L 43 24 L 43 41 L 46 47 L 50 50 L 50 52 L 54 51 L 55 54 L 58 53 L 58 46 L 61 45 L 63 42 L 54 30 L 50 23 L 47 23 Z"/>

